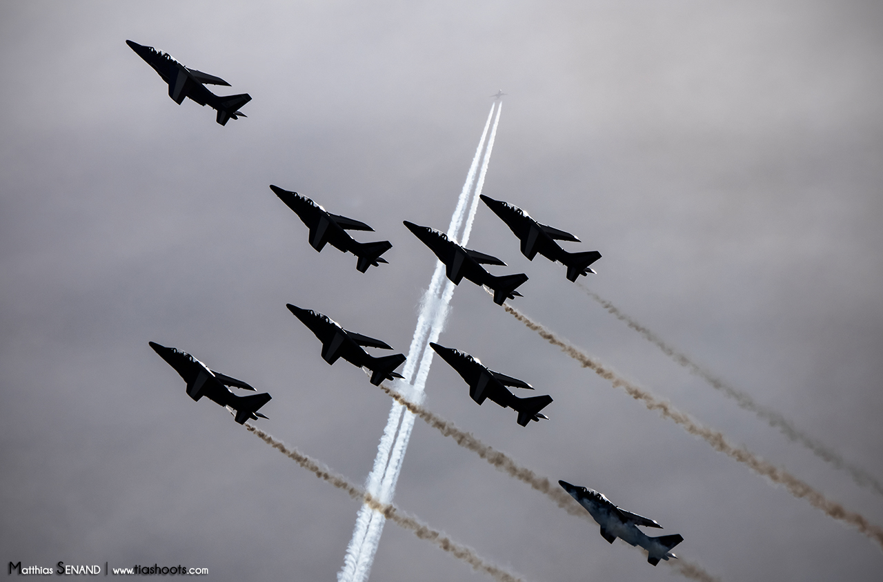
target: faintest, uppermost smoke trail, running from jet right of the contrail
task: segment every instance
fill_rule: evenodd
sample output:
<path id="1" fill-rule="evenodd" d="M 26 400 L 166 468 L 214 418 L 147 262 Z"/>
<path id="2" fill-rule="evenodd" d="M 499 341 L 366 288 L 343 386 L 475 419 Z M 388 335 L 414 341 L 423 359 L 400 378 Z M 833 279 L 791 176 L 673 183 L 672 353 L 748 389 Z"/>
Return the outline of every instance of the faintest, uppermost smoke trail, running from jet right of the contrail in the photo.
<path id="1" fill-rule="evenodd" d="M 803 431 L 795 427 L 791 423 L 791 421 L 789 421 L 789 419 L 786 419 L 784 416 L 782 416 L 780 412 L 776 412 L 762 404 L 754 402 L 754 399 L 751 398 L 751 396 L 749 396 L 747 393 L 743 392 L 742 390 L 733 388 L 727 382 L 724 382 L 711 372 L 708 372 L 703 367 L 698 366 L 698 364 L 693 362 L 683 352 L 677 351 L 675 350 L 675 348 L 666 344 L 662 340 L 662 338 L 660 338 L 660 336 L 654 334 L 653 331 L 651 331 L 650 329 L 646 329 L 643 325 L 638 323 L 638 321 L 632 319 L 629 315 L 623 314 L 623 312 L 620 311 L 618 307 L 610 303 L 607 299 L 603 299 L 597 293 L 586 289 L 582 283 L 577 283 L 577 285 L 579 285 L 579 287 L 583 291 L 585 291 L 586 295 L 600 303 L 600 306 L 607 309 L 609 314 L 613 315 L 619 321 L 623 321 L 631 329 L 634 329 L 639 334 L 644 336 L 647 341 L 656 345 L 656 347 L 658 347 L 664 354 L 666 354 L 669 358 L 674 359 L 675 362 L 677 362 L 681 366 L 690 370 L 692 374 L 696 374 L 698 375 L 698 377 L 708 382 L 708 384 L 711 385 L 713 389 L 720 390 L 724 395 L 735 400 L 736 404 L 738 404 L 744 410 L 754 412 L 758 415 L 758 417 L 766 420 L 769 426 L 779 429 L 783 435 L 789 438 L 790 441 L 798 442 L 804 445 L 804 447 L 811 450 L 817 457 L 827 461 L 831 465 L 834 465 L 841 471 L 848 472 L 849 476 L 851 476 L 858 485 L 871 488 L 878 495 L 883 495 L 883 483 L 880 483 L 880 481 L 877 480 L 870 472 L 865 471 L 861 467 L 850 464 L 838 453 L 834 452 L 834 450 L 831 450 L 826 445 L 813 439 L 811 436 L 806 435 Z"/>

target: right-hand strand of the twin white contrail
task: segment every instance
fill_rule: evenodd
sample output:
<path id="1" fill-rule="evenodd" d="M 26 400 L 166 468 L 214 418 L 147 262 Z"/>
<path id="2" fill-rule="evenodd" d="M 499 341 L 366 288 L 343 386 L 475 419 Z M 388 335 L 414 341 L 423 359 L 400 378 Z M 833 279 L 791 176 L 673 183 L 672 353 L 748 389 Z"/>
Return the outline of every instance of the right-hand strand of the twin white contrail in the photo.
<path id="1" fill-rule="evenodd" d="M 461 245 L 465 245 L 469 241 L 469 235 L 472 231 L 472 223 L 475 220 L 475 213 L 478 210 L 479 194 L 481 193 L 481 189 L 484 186 L 485 176 L 487 175 L 487 165 L 488 163 L 490 163 L 490 157 L 494 147 L 494 139 L 496 137 L 497 125 L 499 125 L 500 123 L 501 110 L 502 103 L 498 103 L 496 116 L 494 117 L 494 129 L 491 130 L 490 139 L 487 141 L 487 151 L 485 152 L 484 159 L 481 163 L 479 182 L 476 186 L 475 193 L 472 194 L 472 204 L 469 207 L 469 214 L 466 215 L 466 226 L 464 229 L 463 238 L 460 240 Z M 492 107 L 491 112 L 493 113 L 493 111 L 494 109 Z M 456 226 L 453 220 L 451 221 L 451 226 Z M 439 266 L 441 266 L 441 263 L 439 263 Z M 444 329 L 445 321 L 448 317 L 450 299 L 454 295 L 455 287 L 456 285 L 454 283 L 451 283 L 450 281 L 445 283 L 444 291 L 442 291 L 442 299 L 436 303 L 434 317 L 429 328 L 429 337 L 427 338 L 426 344 L 428 344 L 428 342 L 438 341 L 438 338 L 442 333 L 442 329 Z M 434 351 L 426 349 L 426 347 L 424 348 L 423 357 L 420 359 L 420 365 L 417 369 L 416 379 L 412 384 L 413 392 L 419 397 L 422 397 L 423 390 L 426 387 L 426 378 L 429 375 L 429 367 L 432 366 L 433 354 Z M 386 473 L 383 475 L 383 482 L 381 484 L 380 491 L 381 503 L 389 503 L 390 501 L 392 501 L 393 495 L 395 495 L 396 483 L 398 482 L 399 473 L 402 470 L 404 452 L 408 447 L 408 442 L 411 440 L 411 429 L 413 429 L 413 427 L 414 414 L 410 411 L 405 411 L 402 417 L 402 424 L 398 429 L 398 435 L 396 435 L 396 443 L 393 447 L 392 454 L 389 457 L 389 464 L 387 465 Z M 361 554 L 361 556 L 363 556 L 363 559 L 360 560 L 360 562 L 356 566 L 356 575 L 354 577 L 354 580 L 361 581 L 367 579 L 368 574 L 371 571 L 371 565 L 372 563 L 374 563 L 374 553 L 376 552 L 377 544 L 380 543 L 382 532 L 382 518 L 375 515 L 375 517 L 371 520 L 371 523 L 368 525 L 368 531 L 366 533 L 365 542 L 363 544 L 363 551 Z"/>

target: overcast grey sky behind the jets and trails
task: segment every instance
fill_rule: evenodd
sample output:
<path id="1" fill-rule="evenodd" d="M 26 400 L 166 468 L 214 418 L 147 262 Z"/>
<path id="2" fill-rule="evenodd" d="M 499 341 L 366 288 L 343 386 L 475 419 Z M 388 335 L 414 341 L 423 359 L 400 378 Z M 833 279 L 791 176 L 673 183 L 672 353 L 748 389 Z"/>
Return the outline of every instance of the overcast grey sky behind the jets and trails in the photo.
<path id="1" fill-rule="evenodd" d="M 333 580 L 358 504 L 270 449 L 147 346 L 273 400 L 259 426 L 354 482 L 390 400 L 285 309 L 407 351 L 492 100 L 484 193 L 597 249 L 581 281 L 883 479 L 883 7 L 875 2 L 6 2 L 0 6 L 0 560 Z M 247 92 L 176 105 L 125 40 Z M 389 239 L 355 269 L 269 190 Z M 616 321 L 479 208 L 513 302 L 851 510 L 883 499 Z M 880 548 L 631 400 L 462 283 L 440 343 L 531 382 L 551 420 L 426 405 L 525 465 L 681 533 L 722 580 L 879 579 Z M 418 420 L 396 503 L 527 580 L 679 578 L 609 546 Z M 652 532 L 651 532 L 652 533 Z M 396 525 L 375 580 L 487 579 Z"/>

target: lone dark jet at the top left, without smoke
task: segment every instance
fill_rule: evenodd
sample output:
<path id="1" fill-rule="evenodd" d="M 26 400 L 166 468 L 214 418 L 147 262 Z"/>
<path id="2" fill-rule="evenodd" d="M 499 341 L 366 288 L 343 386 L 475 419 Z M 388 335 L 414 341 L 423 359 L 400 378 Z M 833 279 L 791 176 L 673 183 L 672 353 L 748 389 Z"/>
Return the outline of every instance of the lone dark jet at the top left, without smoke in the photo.
<path id="1" fill-rule="evenodd" d="M 206 87 L 207 83 L 209 85 L 224 85 L 226 87 L 230 87 L 230 83 L 214 75 L 209 75 L 196 69 L 188 69 L 183 64 L 178 63 L 170 54 L 156 50 L 153 47 L 146 47 L 132 41 L 126 41 L 125 43 L 138 53 L 139 57 L 147 61 L 147 64 L 159 73 L 162 80 L 169 84 L 169 96 L 178 105 L 184 102 L 185 97 L 190 97 L 202 106 L 208 105 L 213 110 L 217 110 L 217 122 L 221 125 L 227 125 L 228 119 L 245 117 L 245 113 L 240 111 L 239 108 L 245 105 L 245 103 L 252 101 L 251 95 L 247 93 L 226 96 L 216 95 L 208 90 Z"/>

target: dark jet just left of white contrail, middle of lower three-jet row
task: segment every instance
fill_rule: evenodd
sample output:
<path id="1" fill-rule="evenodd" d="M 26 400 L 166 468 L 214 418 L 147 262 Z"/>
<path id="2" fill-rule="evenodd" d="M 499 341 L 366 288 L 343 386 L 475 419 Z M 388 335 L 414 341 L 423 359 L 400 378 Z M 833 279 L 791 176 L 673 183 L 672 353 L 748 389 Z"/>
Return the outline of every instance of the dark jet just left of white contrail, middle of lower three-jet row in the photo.
<path id="1" fill-rule="evenodd" d="M 338 358 L 343 358 L 355 367 L 366 367 L 372 372 L 371 383 L 374 386 L 380 386 L 384 380 L 403 377 L 402 374 L 396 374 L 393 370 L 404 362 L 406 359 L 404 354 L 396 353 L 394 356 L 374 358 L 360 347 L 365 345 L 382 350 L 392 350 L 389 344 L 373 337 L 362 336 L 354 331 L 347 331 L 328 315 L 314 312 L 312 309 L 301 309 L 291 303 L 286 306 L 319 338 L 322 343 L 322 359 L 328 364 L 334 364 Z"/>

